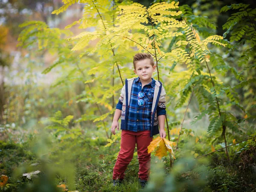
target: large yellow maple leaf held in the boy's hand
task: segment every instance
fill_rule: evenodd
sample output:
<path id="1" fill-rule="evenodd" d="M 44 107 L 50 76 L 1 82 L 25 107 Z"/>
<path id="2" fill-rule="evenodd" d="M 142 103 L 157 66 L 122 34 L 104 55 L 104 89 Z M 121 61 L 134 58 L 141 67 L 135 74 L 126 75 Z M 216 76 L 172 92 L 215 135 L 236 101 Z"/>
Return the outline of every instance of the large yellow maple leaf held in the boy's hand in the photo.
<path id="1" fill-rule="evenodd" d="M 175 145 L 176 145 L 175 142 L 166 140 L 165 138 L 157 137 L 150 143 L 150 145 L 148 145 L 148 153 L 151 153 L 156 149 L 155 155 L 159 159 L 161 159 L 163 156 L 166 156 L 167 151 L 169 151 L 172 157 L 175 158 L 174 152 L 172 150 L 172 147 Z"/>

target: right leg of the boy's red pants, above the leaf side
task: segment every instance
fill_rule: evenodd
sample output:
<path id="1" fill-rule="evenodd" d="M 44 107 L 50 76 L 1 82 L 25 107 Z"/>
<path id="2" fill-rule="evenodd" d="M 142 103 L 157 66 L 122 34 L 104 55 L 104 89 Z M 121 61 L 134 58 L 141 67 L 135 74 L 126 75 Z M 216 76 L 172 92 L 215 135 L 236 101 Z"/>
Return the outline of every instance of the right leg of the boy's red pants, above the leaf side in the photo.
<path id="1" fill-rule="evenodd" d="M 138 160 L 139 160 L 139 178 L 148 180 L 150 170 L 151 154 L 148 154 L 148 145 L 153 140 L 150 137 L 150 131 L 140 131 L 136 137 Z"/>

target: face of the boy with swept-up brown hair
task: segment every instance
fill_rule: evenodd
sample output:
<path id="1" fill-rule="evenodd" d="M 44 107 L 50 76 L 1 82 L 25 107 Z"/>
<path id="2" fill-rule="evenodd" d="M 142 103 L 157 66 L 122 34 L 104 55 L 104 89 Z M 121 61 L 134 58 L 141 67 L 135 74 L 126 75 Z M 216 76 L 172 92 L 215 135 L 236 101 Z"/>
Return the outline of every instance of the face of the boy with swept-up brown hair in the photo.
<path id="1" fill-rule="evenodd" d="M 142 81 L 149 81 L 151 80 L 155 68 L 156 66 L 154 65 L 154 67 L 152 67 L 149 59 L 144 59 L 137 61 L 134 73 L 139 76 Z"/>

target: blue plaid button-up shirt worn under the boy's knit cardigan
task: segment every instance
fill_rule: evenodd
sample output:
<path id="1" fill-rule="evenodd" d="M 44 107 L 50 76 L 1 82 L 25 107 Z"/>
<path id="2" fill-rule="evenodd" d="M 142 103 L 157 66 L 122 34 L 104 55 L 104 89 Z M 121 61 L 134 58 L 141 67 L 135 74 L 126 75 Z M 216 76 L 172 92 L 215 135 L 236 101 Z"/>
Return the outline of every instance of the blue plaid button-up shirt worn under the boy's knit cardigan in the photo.
<path id="1" fill-rule="evenodd" d="M 144 85 L 141 89 L 142 84 L 140 78 L 134 79 L 131 89 L 131 100 L 128 111 L 128 130 L 129 131 L 149 131 L 151 128 L 151 108 L 154 96 L 155 80 L 152 79 L 151 83 Z M 144 100 L 144 105 L 138 105 L 138 94 L 142 91 L 145 96 L 141 99 Z M 117 103 L 116 109 L 122 110 L 122 102 Z M 157 116 L 165 115 L 165 108 L 157 108 Z"/>

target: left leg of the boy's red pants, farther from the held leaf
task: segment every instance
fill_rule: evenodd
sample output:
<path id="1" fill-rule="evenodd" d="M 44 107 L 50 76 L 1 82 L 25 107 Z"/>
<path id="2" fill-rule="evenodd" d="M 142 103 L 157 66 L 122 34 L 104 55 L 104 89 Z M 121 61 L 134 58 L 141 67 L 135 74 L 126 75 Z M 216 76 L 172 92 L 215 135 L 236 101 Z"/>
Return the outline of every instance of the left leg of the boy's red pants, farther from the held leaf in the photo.
<path id="1" fill-rule="evenodd" d="M 136 136 L 134 131 L 122 130 L 121 149 L 113 169 L 113 180 L 124 178 L 125 170 L 128 164 L 131 162 L 134 154 L 134 148 L 136 144 L 135 138 Z"/>

